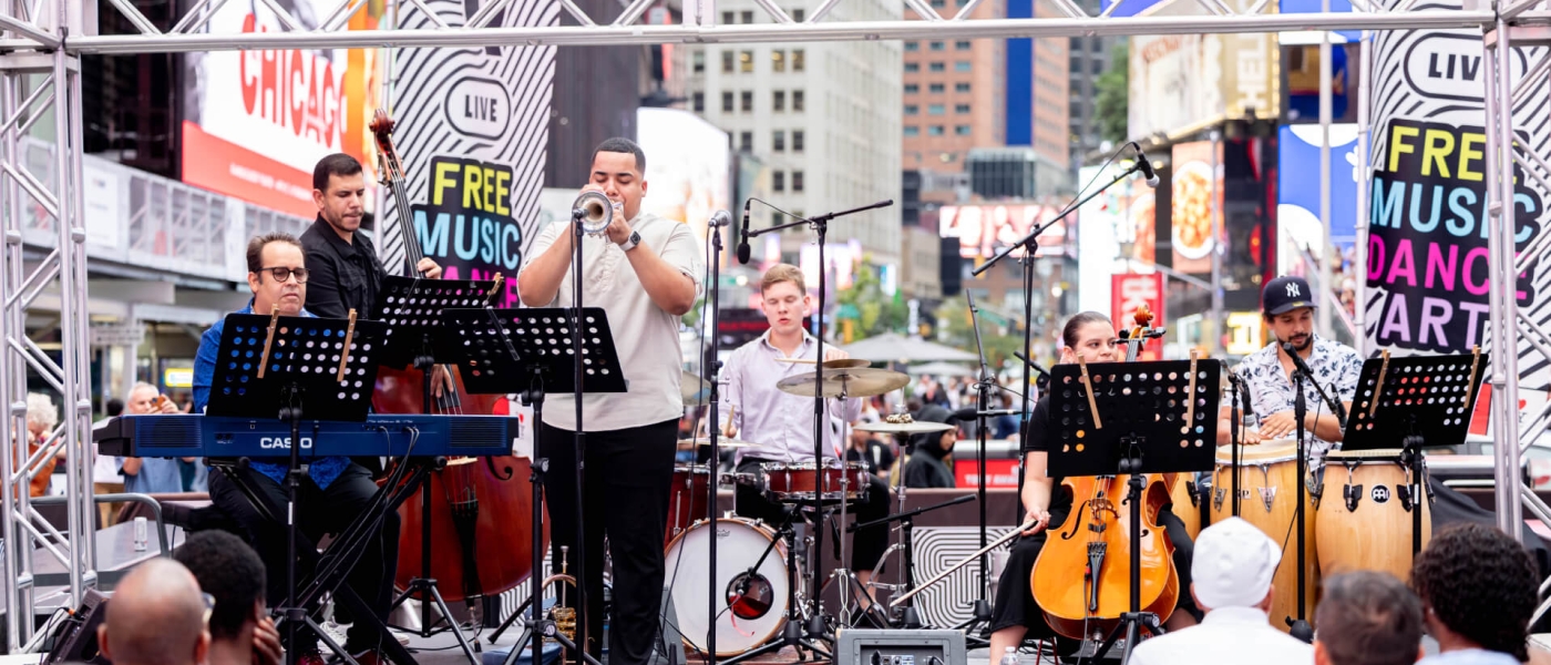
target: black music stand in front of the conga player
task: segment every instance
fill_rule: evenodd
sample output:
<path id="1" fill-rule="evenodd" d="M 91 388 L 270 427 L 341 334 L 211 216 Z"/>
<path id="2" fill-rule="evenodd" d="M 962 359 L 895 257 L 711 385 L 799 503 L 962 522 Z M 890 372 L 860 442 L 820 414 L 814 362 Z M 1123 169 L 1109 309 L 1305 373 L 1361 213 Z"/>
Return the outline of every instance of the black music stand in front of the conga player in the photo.
<path id="1" fill-rule="evenodd" d="M 1401 507 L 1411 513 L 1411 558 L 1422 550 L 1422 501 L 1427 467 L 1422 448 L 1464 442 L 1470 414 L 1486 383 L 1489 353 L 1368 358 L 1357 378 L 1357 395 L 1346 417 L 1343 451 L 1393 448 L 1401 439 L 1401 463 L 1410 471 L 1411 487 L 1397 491 Z M 1511 445 L 1511 442 L 1509 442 Z M 1354 504 L 1352 496 L 1346 496 Z"/>

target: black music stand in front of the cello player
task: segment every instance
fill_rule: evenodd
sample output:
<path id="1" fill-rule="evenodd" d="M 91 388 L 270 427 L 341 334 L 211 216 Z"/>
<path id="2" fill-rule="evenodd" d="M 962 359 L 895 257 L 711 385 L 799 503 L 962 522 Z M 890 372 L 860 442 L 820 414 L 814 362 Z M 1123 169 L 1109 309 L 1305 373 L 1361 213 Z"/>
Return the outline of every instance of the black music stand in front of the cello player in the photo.
<path id="1" fill-rule="evenodd" d="M 1115 640 L 1124 637 L 1121 662 L 1131 662 L 1143 626 L 1152 634 L 1162 632 L 1159 617 L 1142 611 L 1140 474 L 1208 471 L 1216 465 L 1222 364 L 1204 360 L 1081 363 L 1052 372 L 1048 474 L 1131 476 L 1126 490 L 1131 611 L 1120 615 L 1120 623 L 1095 653 L 1104 657 Z M 1098 575 L 1093 570 L 1092 578 Z"/>

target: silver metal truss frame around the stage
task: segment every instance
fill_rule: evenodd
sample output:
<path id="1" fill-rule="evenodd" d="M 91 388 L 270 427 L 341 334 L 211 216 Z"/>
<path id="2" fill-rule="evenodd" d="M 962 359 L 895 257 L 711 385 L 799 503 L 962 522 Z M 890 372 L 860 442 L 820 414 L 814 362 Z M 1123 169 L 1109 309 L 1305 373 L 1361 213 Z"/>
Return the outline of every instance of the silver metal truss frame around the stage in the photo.
<path id="1" fill-rule="evenodd" d="M 1415 9 L 1419 0 L 1405 0 L 1387 9 L 1377 0 L 1351 0 L 1354 11 L 1345 14 L 1267 14 L 1270 0 L 1258 0 L 1250 9 L 1236 12 L 1221 0 L 1163 0 L 1169 3 L 1199 5 L 1205 16 L 1138 16 L 1115 17 L 1117 6 L 1100 12 L 1084 12 L 1070 0 L 1053 0 L 1059 17 L 1045 19 L 971 19 L 983 0 L 969 0 L 954 16 L 938 14 L 924 0 L 906 0 L 920 20 L 844 22 L 828 20 L 842 0 L 822 0 L 807 20 L 796 22 L 774 0 L 757 5 L 771 19 L 757 25 L 715 25 L 715 0 L 687 0 L 682 25 L 641 25 L 641 19 L 653 0 L 630 0 L 619 19 L 600 23 L 592 20 L 572 0 L 558 0 L 577 25 L 492 28 L 496 16 L 516 0 L 484 0 L 462 25 L 450 25 L 448 17 L 430 12 L 423 0 L 403 0 L 403 9 L 419 9 L 431 16 L 430 29 L 375 29 L 349 31 L 349 19 L 361 9 L 366 0 L 340 0 L 335 9 L 315 29 L 302 29 L 301 22 L 273 0 L 261 0 L 278 16 L 284 29 L 273 33 L 209 34 L 211 16 L 226 0 L 200 0 L 169 31 L 158 29 L 141 14 L 132 0 L 109 0 L 140 34 L 93 36 L 81 29 L 79 5 L 82 0 L 0 0 L 0 212 L 5 214 L 5 246 L 0 251 L 0 403 L 9 406 L 8 417 L 0 419 L 0 522 L 3 522 L 5 563 L 3 589 L 6 598 L 6 642 L 14 649 L 33 631 L 34 589 L 31 577 L 31 546 L 42 544 L 60 563 L 68 566 L 70 603 L 79 600 L 84 587 L 93 586 L 95 552 L 92 538 L 92 477 L 90 477 L 90 380 L 88 380 L 88 319 L 85 312 L 85 226 L 82 223 L 82 167 L 81 167 L 81 79 L 79 56 L 82 54 L 136 54 L 174 51 L 231 51 L 231 50 L 290 50 L 290 48 L 391 48 L 391 47 L 490 47 L 490 45 L 655 45 L 655 43 L 752 43 L 752 42 L 824 42 L 824 40 L 879 40 L 879 39 L 1008 39 L 1008 37 L 1064 37 L 1064 36 L 1132 36 L 1132 34 L 1210 34 L 1210 33 L 1278 33 L 1307 29 L 1446 29 L 1480 28 L 1486 33 L 1489 76 L 1487 113 L 1487 161 L 1492 164 L 1489 181 L 1495 183 L 1498 197 L 1491 205 L 1491 270 L 1492 305 L 1492 409 L 1495 439 L 1518 442 L 1520 423 L 1517 409 L 1517 355 L 1497 352 L 1517 350 L 1518 339 L 1526 338 L 1551 358 L 1551 335 L 1522 321 L 1514 299 L 1511 279 L 1518 265 L 1551 246 L 1551 239 L 1515 257 L 1512 243 L 1514 211 L 1500 202 L 1511 197 L 1512 172 L 1517 163 L 1526 174 L 1551 189 L 1551 164 L 1546 157 L 1503 149 L 1511 146 L 1514 118 L 1512 99 L 1526 87 L 1525 81 L 1546 76 L 1551 71 L 1551 56 L 1542 57 L 1517 88 L 1511 85 L 1504 57 L 1511 43 L 1543 42 L 1546 26 L 1551 26 L 1551 8 L 1540 8 L 1546 0 L 1466 0 L 1464 9 Z M 1363 43 L 1366 53 L 1366 42 Z M 23 98 L 23 78 L 43 76 L 47 84 Z M 1365 85 L 1368 78 L 1363 78 Z M 1360 95 L 1365 95 L 1362 90 Z M 1366 99 L 1360 102 L 1366 104 Z M 53 110 L 59 149 L 54 150 L 56 175 L 51 183 L 40 183 L 22 163 L 22 136 L 43 118 L 43 110 Z M 1366 136 L 1366 127 L 1363 127 Z M 1366 141 L 1363 141 L 1363 146 Z M 1365 150 L 1365 147 L 1362 147 Z M 50 186 L 51 184 L 51 186 Z M 23 206 L 34 206 L 54 220 L 59 242 L 56 250 L 33 270 L 22 264 Z M 1542 234 L 1551 236 L 1551 233 Z M 45 285 L 57 281 L 62 296 L 62 346 L 64 364 L 45 357 L 37 343 L 26 338 L 23 327 L 28 304 Z M 53 446 L 65 451 L 68 468 L 68 491 L 74 498 L 68 504 L 68 533 L 56 533 L 39 519 L 26 499 L 26 479 L 40 463 L 42 454 L 28 454 L 19 445 L 25 428 L 25 394 L 29 374 L 42 377 L 64 395 L 64 419 L 51 437 Z M 1542 426 L 1543 429 L 1543 426 Z M 1532 431 L 1531 434 L 1539 434 Z M 1495 446 L 1497 454 L 1497 510 L 1500 524 L 1511 533 L 1520 524 L 1522 507 L 1540 519 L 1551 522 L 1551 507 L 1534 498 L 1520 484 L 1520 459 L 1525 443 Z M 45 453 L 47 454 L 47 453 Z M 20 490 L 20 491 L 17 491 Z M 1523 504 L 1522 504 L 1523 502 Z M 28 546 L 17 546 L 26 543 Z M 60 549 L 64 547 L 64 549 Z M 1551 580 L 1542 589 L 1551 586 Z M 1545 608 L 1542 608 L 1545 609 Z M 26 620 L 22 620 L 22 618 Z"/>

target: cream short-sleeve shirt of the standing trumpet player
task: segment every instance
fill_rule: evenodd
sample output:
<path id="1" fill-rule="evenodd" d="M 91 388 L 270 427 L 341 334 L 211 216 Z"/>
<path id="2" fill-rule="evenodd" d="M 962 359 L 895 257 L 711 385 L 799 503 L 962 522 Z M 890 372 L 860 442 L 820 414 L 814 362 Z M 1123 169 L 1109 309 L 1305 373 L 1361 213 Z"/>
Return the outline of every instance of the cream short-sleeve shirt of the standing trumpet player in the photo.
<path id="1" fill-rule="evenodd" d="M 656 253 L 693 279 L 696 293 L 701 290 L 701 246 L 687 225 L 642 212 L 630 222 L 630 226 L 641 234 L 641 246 L 631 251 Z M 561 233 L 571 233 L 569 222 L 551 223 L 540 231 L 523 270 L 543 256 Z M 625 429 L 684 415 L 684 398 L 679 394 L 682 370 L 679 318 L 651 302 L 625 250 L 608 237 L 582 237 L 582 307 L 602 307 L 608 315 L 619 364 L 628 381 L 627 392 L 582 397 L 583 429 L 589 432 Z M 571 273 L 572 268 L 568 265 L 552 302 L 524 305 L 571 307 Z M 572 400 L 574 395 L 569 394 L 548 395 L 544 423 L 574 431 Z"/>

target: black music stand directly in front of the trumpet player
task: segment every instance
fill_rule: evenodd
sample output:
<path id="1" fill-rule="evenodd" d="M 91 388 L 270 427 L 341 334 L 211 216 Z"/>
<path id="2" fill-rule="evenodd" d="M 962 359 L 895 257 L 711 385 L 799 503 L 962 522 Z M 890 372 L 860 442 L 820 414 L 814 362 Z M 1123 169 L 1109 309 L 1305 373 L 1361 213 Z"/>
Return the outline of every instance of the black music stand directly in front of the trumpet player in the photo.
<path id="1" fill-rule="evenodd" d="M 448 308 L 442 310 L 447 329 L 444 329 L 444 344 L 456 349 L 459 374 L 464 386 L 475 394 L 506 394 L 513 386 L 527 381 L 523 403 L 534 408 L 534 463 L 530 484 L 534 488 L 534 575 L 529 595 L 527 636 L 532 640 L 532 662 L 543 662 L 544 637 L 554 637 L 582 659 L 597 665 L 586 648 L 568 640 L 555 628 L 555 622 L 543 617 L 540 594 L 543 587 L 538 581 L 538 564 L 543 561 L 543 491 L 544 474 L 549 471 L 549 460 L 540 457 L 541 425 L 544 419 L 544 394 L 569 392 L 580 398 L 591 392 L 625 392 L 625 372 L 619 366 L 619 353 L 614 350 L 614 335 L 608 327 L 608 316 L 602 307 L 583 307 L 582 326 L 575 324 L 575 308 Z M 582 357 L 586 367 L 582 386 L 577 386 L 574 374 L 572 333 L 582 333 Z M 582 488 L 583 451 L 577 450 L 577 490 Z M 586 533 L 582 530 L 582 501 L 577 498 L 577 556 L 583 556 L 582 541 Z M 579 560 L 580 561 L 580 560 Z M 579 617 L 586 622 L 586 580 L 579 567 L 577 584 Z M 521 612 L 513 612 L 503 622 L 499 631 L 512 625 Z M 496 634 L 499 634 L 499 631 Z M 585 629 L 582 631 L 585 632 Z M 507 665 L 516 662 L 523 651 L 523 640 L 512 648 Z"/>

